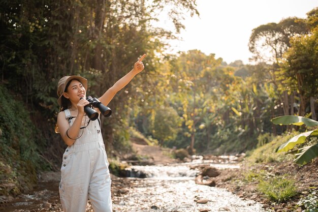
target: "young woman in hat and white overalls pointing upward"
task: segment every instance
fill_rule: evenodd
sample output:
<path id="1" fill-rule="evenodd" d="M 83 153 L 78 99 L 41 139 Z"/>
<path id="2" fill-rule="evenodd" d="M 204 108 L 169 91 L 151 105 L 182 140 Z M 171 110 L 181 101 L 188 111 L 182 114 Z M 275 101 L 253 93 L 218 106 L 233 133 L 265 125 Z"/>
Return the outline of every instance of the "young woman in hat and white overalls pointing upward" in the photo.
<path id="1" fill-rule="evenodd" d="M 99 101 L 108 105 L 115 94 L 144 69 L 144 54 L 134 69 L 119 79 Z M 87 80 L 80 76 L 62 77 L 57 86 L 57 128 L 68 145 L 63 154 L 59 194 L 65 212 L 85 212 L 90 199 L 94 212 L 112 211 L 111 179 L 107 155 L 98 120 L 89 120 L 84 106 Z M 99 113 L 97 108 L 94 108 Z"/>

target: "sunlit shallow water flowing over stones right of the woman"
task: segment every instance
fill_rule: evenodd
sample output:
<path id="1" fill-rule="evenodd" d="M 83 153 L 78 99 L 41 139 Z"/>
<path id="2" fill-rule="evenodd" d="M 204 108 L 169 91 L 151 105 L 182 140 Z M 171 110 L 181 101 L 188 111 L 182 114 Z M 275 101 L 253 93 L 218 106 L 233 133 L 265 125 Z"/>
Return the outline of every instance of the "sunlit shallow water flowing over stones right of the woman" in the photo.
<path id="1" fill-rule="evenodd" d="M 239 168 L 239 165 L 229 163 L 229 160 L 226 163 L 215 164 L 200 159 L 169 166 L 132 166 L 129 171 L 131 179 L 135 180 L 134 186 L 120 198 L 114 197 L 114 210 L 122 212 L 193 212 L 204 209 L 233 212 L 266 211 L 261 204 L 252 200 L 243 200 L 224 189 L 197 185 L 194 179 L 198 170 L 190 169 L 190 166 L 199 164 L 210 164 L 217 169 Z M 197 203 L 200 199 L 205 199 L 207 203 Z"/>

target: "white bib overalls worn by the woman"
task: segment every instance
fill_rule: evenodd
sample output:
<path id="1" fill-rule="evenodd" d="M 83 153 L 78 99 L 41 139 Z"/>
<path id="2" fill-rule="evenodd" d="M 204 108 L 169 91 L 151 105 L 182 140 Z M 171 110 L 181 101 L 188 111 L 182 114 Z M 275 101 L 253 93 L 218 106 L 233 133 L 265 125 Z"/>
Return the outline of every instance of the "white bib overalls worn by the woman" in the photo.
<path id="1" fill-rule="evenodd" d="M 65 114 L 67 119 L 71 117 L 68 109 Z M 74 118 L 69 119 L 70 126 L 73 122 Z M 85 212 L 89 198 L 94 212 L 112 212 L 109 163 L 98 121 L 90 121 L 78 136 L 63 154 L 59 184 L 63 210 Z"/>

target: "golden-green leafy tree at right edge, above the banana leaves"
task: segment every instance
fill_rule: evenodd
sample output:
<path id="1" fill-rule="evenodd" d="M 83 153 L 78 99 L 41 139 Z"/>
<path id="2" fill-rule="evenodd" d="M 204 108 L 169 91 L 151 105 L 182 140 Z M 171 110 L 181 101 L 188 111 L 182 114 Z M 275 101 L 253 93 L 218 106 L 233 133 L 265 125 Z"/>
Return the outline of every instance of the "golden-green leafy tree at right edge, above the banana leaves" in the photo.
<path id="1" fill-rule="evenodd" d="M 305 115 L 306 103 L 310 100 L 312 119 L 316 120 L 314 99 L 318 94 L 318 31 L 294 37 L 291 44 L 292 47 L 282 60 L 282 75 L 291 87 L 297 85 L 300 95 L 299 115 Z"/>

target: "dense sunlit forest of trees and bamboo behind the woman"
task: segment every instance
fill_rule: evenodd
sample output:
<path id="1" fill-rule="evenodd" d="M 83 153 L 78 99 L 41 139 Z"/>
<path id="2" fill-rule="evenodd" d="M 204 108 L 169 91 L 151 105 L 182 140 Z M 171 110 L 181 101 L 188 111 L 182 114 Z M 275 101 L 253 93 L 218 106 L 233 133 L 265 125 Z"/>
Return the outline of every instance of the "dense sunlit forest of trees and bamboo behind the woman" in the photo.
<path id="1" fill-rule="evenodd" d="M 197 49 L 165 53 L 168 40 L 184 29 L 183 17 L 199 15 L 196 0 L 3 0 L 1 5 L 2 170 L 57 170 L 66 147 L 54 132 L 58 80 L 83 76 L 87 94 L 99 97 L 144 53 L 145 70 L 108 105 L 112 115 L 101 118 L 109 157 L 130 154 L 130 137 L 137 132 L 154 145 L 184 148 L 191 155 L 235 155 L 277 135 L 305 132 L 301 126 L 275 125 L 272 118 L 317 120 L 318 8 L 304 19 L 254 28 L 248 43 L 252 63 L 245 65 Z M 163 11 L 173 31 L 153 24 Z"/>

